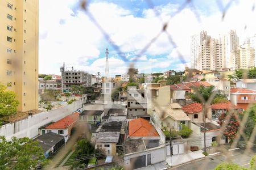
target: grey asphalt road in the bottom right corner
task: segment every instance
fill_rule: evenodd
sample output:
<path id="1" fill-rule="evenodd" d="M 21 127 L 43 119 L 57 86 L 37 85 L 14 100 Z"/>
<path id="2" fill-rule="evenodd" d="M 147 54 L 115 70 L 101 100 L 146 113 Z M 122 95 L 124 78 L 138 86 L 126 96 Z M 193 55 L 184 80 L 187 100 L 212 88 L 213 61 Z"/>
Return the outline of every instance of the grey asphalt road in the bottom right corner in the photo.
<path id="1" fill-rule="evenodd" d="M 174 170 L 211 170 L 218 164 L 223 162 L 233 162 L 243 167 L 250 167 L 251 156 L 256 155 L 256 148 L 254 147 L 251 152 L 245 152 L 243 149 L 228 151 L 222 154 L 208 156 L 205 159 L 197 160 L 177 168 L 171 168 Z"/>

